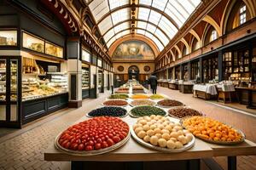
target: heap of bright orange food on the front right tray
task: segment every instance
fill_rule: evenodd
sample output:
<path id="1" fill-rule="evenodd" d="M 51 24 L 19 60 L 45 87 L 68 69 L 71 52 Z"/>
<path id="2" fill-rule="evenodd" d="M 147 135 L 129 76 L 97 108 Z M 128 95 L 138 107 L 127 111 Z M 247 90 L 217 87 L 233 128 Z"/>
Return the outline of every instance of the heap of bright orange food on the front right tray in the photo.
<path id="1" fill-rule="evenodd" d="M 195 137 L 218 144 L 236 144 L 242 142 L 244 134 L 210 117 L 192 116 L 183 119 L 183 127 Z"/>

